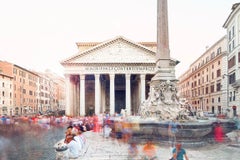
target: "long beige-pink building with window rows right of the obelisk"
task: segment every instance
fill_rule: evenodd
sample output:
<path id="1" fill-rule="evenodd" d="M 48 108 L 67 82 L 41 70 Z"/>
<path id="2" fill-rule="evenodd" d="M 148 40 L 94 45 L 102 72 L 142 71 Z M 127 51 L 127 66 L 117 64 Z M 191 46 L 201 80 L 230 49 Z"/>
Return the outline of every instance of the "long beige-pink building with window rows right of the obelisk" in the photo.
<path id="1" fill-rule="evenodd" d="M 183 103 L 193 112 L 216 115 L 229 112 L 227 101 L 227 39 L 226 36 L 208 48 L 179 77 L 178 89 Z"/>

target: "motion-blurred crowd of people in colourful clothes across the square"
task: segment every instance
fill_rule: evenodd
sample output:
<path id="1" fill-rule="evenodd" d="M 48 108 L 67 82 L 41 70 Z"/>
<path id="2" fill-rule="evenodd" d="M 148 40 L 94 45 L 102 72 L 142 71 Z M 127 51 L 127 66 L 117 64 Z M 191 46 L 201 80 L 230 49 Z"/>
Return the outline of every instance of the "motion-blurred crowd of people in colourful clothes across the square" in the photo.
<path id="1" fill-rule="evenodd" d="M 234 119 L 236 121 L 237 133 L 239 133 L 239 117 Z M 131 141 L 132 131 L 139 129 L 137 123 L 128 123 L 124 117 L 111 117 L 108 114 L 102 116 L 84 116 L 84 117 L 67 117 L 67 116 L 1 116 L 0 126 L 13 127 L 21 123 L 25 124 L 37 124 L 38 126 L 44 125 L 62 125 L 66 128 L 64 144 L 66 144 L 69 152 L 69 157 L 77 158 L 84 154 L 87 149 L 87 138 L 84 136 L 84 132 L 93 131 L 101 132 L 105 138 L 113 137 L 120 140 L 123 143 L 128 143 L 128 155 L 130 159 L 138 156 L 139 153 L 144 154 L 144 158 L 157 159 L 157 149 L 155 144 L 149 140 L 147 141 L 140 151 L 138 143 Z M 172 147 L 172 159 L 174 160 L 188 160 L 186 151 L 182 148 L 181 143 L 177 142 L 176 133 L 181 125 L 176 121 L 169 121 L 168 124 L 169 145 Z M 10 127 L 11 126 L 11 127 Z M 46 127 L 47 128 L 47 127 Z M 214 127 L 214 139 L 216 142 L 223 142 L 223 130 L 220 123 L 217 123 Z"/>

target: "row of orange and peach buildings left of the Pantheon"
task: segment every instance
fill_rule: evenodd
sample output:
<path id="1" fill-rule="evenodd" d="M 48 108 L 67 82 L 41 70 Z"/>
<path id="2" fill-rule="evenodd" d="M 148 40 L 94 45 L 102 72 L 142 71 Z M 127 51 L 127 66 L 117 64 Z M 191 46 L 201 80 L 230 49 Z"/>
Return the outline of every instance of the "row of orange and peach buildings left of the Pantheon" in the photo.
<path id="1" fill-rule="evenodd" d="M 0 61 L 0 114 L 27 115 L 65 109 L 64 78 Z"/>

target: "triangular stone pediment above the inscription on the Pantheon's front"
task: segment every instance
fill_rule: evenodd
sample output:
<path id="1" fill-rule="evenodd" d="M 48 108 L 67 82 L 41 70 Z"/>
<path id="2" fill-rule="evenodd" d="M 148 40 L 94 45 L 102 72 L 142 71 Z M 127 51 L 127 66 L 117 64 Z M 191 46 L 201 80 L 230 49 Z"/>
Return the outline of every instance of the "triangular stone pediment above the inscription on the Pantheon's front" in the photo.
<path id="1" fill-rule="evenodd" d="M 100 43 L 62 61 L 61 64 L 155 63 L 156 52 L 124 37 Z"/>

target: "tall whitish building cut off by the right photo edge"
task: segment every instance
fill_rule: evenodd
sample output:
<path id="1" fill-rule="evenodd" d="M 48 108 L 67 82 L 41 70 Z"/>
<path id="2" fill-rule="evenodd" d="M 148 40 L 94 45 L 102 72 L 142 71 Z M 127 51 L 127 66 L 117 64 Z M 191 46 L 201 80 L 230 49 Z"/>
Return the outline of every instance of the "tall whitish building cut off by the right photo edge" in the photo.
<path id="1" fill-rule="evenodd" d="M 228 100 L 233 116 L 240 115 L 240 3 L 233 4 L 223 27 L 227 30 Z"/>

